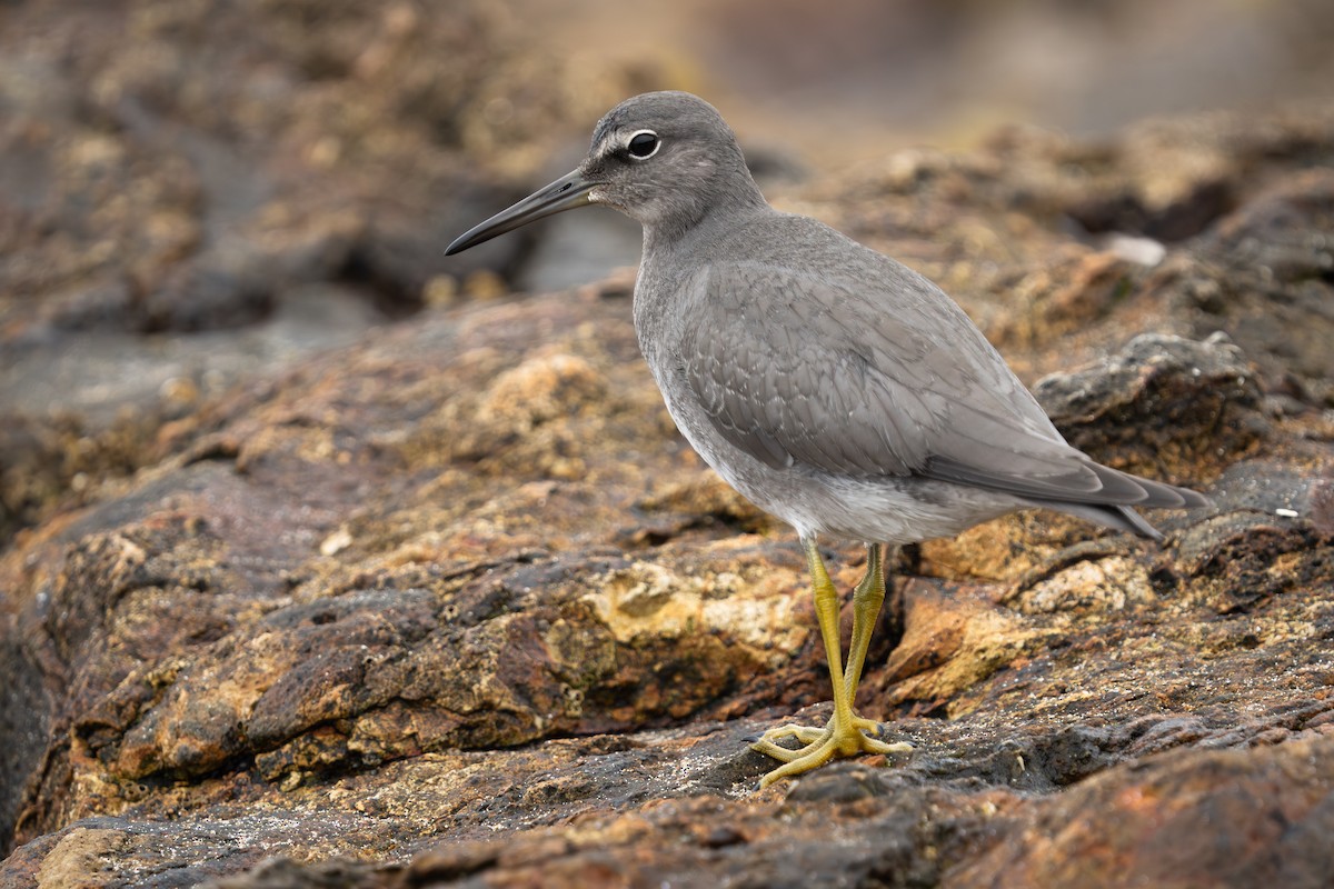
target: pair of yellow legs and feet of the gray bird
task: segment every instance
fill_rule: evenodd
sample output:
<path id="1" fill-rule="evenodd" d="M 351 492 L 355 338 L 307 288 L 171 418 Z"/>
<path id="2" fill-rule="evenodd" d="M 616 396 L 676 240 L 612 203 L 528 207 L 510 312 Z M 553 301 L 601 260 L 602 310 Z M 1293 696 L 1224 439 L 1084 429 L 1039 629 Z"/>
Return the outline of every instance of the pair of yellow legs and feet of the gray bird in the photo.
<path id="1" fill-rule="evenodd" d="M 859 753 L 898 753 L 911 750 L 908 744 L 886 744 L 867 737 L 866 732 L 879 734 L 880 726 L 874 720 L 866 720 L 852 712 L 852 698 L 862 678 L 866 664 L 866 649 L 871 644 L 871 630 L 884 601 L 884 573 L 880 562 L 880 546 L 871 544 L 867 550 L 866 577 L 856 585 L 852 594 L 852 645 L 848 652 L 847 673 L 843 672 L 843 653 L 838 633 L 838 590 L 824 570 L 824 562 L 815 546 L 814 538 L 803 538 L 806 558 L 811 566 L 811 582 L 815 589 L 815 617 L 819 620 L 820 636 L 824 640 L 824 657 L 830 665 L 830 680 L 834 685 L 834 716 L 824 728 L 782 725 L 766 732 L 752 745 L 755 750 L 783 760 L 784 765 L 774 769 L 763 778 L 760 786 L 768 786 L 779 778 L 802 774 L 819 768 L 834 757 L 856 756 Z M 802 744 L 791 750 L 779 746 L 776 741 L 795 737 Z"/>

